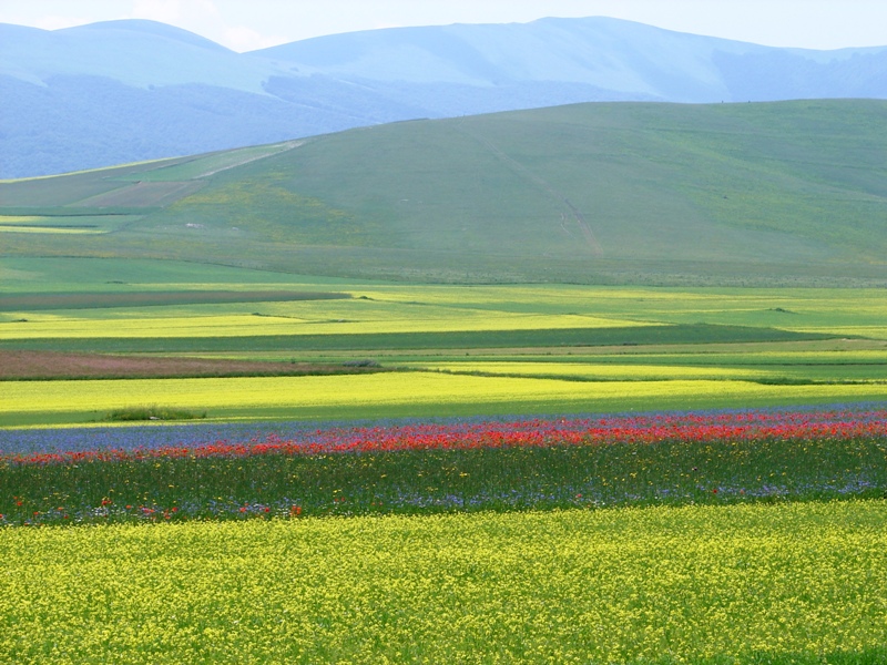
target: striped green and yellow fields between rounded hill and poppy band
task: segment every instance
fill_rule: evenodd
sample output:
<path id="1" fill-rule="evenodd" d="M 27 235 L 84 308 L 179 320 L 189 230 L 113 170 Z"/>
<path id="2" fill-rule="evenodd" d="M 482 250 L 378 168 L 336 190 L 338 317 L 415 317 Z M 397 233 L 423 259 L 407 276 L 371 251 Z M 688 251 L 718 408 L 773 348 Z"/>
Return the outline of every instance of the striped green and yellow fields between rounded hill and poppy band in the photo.
<path id="1" fill-rule="evenodd" d="M 347 419 L 887 398 L 877 289 L 409 285 L 115 259 L 8 258 L 0 270 L 0 351 L 398 370 L 8 382 L 6 426 L 151 405 L 222 420 Z"/>

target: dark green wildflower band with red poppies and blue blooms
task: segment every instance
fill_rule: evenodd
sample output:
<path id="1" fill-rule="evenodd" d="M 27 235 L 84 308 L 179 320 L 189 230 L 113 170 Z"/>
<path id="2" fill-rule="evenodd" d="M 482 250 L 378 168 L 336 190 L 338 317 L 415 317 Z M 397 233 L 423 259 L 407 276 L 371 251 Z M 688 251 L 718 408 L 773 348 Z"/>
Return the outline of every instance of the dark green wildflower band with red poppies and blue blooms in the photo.
<path id="1" fill-rule="evenodd" d="M 884 498 L 887 411 L 806 409 L 296 428 L 0 457 L 0 524 Z M 245 431 L 245 430 L 244 430 Z M 37 439 L 43 434 L 42 447 Z"/>

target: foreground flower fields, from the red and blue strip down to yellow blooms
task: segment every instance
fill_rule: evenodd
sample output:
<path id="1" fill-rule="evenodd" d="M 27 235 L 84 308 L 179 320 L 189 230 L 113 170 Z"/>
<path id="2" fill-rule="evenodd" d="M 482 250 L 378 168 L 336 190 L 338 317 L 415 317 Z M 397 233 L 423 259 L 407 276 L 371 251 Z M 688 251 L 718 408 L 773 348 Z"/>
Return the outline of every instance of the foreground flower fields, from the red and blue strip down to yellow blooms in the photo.
<path id="1" fill-rule="evenodd" d="M 0 658 L 874 665 L 885 423 L 8 430 Z"/>

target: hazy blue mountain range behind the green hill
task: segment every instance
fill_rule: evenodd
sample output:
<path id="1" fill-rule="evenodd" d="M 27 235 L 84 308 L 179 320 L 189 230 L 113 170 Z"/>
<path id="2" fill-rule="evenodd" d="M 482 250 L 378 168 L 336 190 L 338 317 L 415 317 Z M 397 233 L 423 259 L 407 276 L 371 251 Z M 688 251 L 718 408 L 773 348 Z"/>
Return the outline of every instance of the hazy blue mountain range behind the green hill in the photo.
<path id="1" fill-rule="evenodd" d="M 152 21 L 0 24 L 0 177 L 22 177 L 585 101 L 887 99 L 887 47 L 776 49 L 589 18 L 235 53 Z"/>

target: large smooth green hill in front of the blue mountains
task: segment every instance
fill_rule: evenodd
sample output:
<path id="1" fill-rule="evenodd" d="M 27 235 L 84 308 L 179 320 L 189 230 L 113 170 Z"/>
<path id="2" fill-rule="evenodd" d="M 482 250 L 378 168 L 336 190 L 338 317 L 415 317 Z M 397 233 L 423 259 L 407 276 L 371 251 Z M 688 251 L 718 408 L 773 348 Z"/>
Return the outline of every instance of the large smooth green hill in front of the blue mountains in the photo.
<path id="1" fill-rule="evenodd" d="M 887 283 L 887 102 L 580 104 L 0 184 L 0 253 L 440 282 Z"/>

